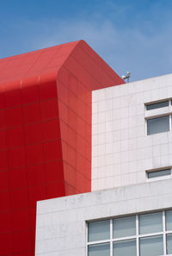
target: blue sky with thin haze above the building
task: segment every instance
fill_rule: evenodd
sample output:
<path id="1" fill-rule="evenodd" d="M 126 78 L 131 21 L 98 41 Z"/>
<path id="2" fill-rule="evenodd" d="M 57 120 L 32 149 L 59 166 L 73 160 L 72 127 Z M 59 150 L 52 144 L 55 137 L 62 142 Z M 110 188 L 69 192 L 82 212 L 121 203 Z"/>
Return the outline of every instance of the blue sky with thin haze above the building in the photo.
<path id="1" fill-rule="evenodd" d="M 85 40 L 131 81 L 172 72 L 172 0 L 0 0 L 0 59 Z"/>

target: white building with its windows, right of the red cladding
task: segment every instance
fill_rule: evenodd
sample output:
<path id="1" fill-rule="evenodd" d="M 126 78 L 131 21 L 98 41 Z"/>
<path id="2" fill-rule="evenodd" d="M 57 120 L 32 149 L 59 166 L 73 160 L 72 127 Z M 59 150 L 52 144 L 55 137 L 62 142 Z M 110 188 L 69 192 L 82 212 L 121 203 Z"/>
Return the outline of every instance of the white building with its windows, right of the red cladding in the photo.
<path id="1" fill-rule="evenodd" d="M 38 203 L 35 255 L 172 255 L 172 75 L 93 91 L 92 113 L 92 191 Z"/>

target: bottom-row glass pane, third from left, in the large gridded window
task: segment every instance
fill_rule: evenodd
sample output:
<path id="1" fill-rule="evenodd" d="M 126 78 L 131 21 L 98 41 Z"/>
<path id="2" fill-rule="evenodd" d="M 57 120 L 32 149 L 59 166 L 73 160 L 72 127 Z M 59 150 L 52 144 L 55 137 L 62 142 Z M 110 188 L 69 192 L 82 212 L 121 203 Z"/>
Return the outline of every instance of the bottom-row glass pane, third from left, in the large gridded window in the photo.
<path id="1" fill-rule="evenodd" d="M 163 255 L 163 235 L 140 238 L 140 256 Z"/>

